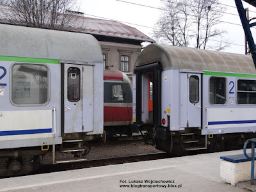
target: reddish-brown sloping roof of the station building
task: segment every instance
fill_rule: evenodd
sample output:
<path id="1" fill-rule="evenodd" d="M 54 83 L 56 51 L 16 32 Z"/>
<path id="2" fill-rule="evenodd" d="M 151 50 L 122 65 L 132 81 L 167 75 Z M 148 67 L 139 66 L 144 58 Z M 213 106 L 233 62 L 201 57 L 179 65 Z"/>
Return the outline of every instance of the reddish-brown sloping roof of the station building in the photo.
<path id="1" fill-rule="evenodd" d="M 9 7 L 0 6 L 1 11 L 11 12 Z M 152 38 L 141 33 L 136 28 L 122 24 L 115 20 L 95 19 L 74 15 L 72 26 L 67 28 L 68 31 L 76 31 L 81 33 L 89 33 L 92 35 L 110 36 L 115 38 L 125 38 L 128 40 L 136 40 L 139 42 L 155 42 Z M 0 12 L 0 23 L 10 23 L 4 18 L 4 14 Z"/>

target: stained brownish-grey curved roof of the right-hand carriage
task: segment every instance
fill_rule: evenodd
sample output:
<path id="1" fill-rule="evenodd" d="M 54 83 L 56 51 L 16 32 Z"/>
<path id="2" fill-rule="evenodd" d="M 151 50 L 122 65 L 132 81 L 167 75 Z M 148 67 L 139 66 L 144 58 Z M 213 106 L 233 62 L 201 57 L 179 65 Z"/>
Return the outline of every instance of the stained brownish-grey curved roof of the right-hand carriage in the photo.
<path id="1" fill-rule="evenodd" d="M 240 74 L 256 73 L 252 56 L 162 44 L 150 44 L 145 47 L 136 60 L 135 67 L 157 61 L 161 62 L 163 70 L 179 68 Z"/>

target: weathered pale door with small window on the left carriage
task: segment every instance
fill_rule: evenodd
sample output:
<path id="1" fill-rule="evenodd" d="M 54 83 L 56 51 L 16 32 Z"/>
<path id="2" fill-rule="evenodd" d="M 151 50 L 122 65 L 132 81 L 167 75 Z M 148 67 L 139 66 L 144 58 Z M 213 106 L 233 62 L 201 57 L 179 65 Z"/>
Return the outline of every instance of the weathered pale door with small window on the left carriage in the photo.
<path id="1" fill-rule="evenodd" d="M 64 133 L 93 131 L 93 66 L 64 66 Z"/>

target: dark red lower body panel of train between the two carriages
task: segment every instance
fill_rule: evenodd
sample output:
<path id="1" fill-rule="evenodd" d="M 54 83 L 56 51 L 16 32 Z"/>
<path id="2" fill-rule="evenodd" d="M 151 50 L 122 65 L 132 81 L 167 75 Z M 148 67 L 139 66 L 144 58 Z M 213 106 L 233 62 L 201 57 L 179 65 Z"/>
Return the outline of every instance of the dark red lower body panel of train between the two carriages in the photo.
<path id="1" fill-rule="evenodd" d="M 104 106 L 104 122 L 123 122 L 132 120 L 132 107 Z"/>

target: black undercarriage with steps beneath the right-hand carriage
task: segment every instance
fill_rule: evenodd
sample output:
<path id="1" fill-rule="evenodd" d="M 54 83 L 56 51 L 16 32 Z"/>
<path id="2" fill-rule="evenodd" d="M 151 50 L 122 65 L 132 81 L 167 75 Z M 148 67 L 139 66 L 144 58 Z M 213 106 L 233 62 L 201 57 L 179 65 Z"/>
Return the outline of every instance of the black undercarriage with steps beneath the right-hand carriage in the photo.
<path id="1" fill-rule="evenodd" d="M 169 131 L 162 127 L 153 127 L 144 141 L 164 152 L 182 156 L 198 150 L 220 152 L 241 149 L 246 140 L 255 137 L 256 133 L 252 132 L 202 135 L 200 128 Z"/>

